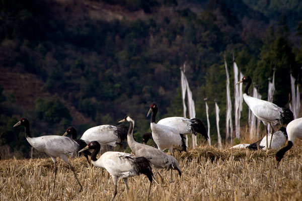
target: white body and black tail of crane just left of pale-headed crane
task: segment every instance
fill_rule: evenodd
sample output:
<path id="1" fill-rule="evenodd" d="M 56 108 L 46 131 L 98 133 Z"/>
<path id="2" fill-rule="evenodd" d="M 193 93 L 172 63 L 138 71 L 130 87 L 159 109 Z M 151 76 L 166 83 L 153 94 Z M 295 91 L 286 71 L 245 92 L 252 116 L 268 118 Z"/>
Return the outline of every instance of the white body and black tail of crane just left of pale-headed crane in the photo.
<path id="1" fill-rule="evenodd" d="M 81 140 L 87 144 L 92 141 L 98 141 L 101 146 L 110 145 L 115 147 L 127 139 L 128 127 L 125 125 L 112 126 L 101 125 L 88 129 L 84 132 Z"/>

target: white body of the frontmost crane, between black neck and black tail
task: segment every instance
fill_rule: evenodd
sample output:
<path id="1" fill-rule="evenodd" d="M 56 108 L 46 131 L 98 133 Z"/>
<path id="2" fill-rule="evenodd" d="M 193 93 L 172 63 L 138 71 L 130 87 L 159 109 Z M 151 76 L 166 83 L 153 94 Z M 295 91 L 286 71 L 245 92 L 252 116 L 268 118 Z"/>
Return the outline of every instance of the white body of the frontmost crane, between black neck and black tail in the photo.
<path id="1" fill-rule="evenodd" d="M 135 156 L 128 153 L 108 151 L 102 154 L 98 160 L 92 160 L 91 162 L 96 167 L 105 168 L 112 178 L 127 178 L 137 175 L 133 163 L 130 161 L 132 158 L 135 158 Z"/>

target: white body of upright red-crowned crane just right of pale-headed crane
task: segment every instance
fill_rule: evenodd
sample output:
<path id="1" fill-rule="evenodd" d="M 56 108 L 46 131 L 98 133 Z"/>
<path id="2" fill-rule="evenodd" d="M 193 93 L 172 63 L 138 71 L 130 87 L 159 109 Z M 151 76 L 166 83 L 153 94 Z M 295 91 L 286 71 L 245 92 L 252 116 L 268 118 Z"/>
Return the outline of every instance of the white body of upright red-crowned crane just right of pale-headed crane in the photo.
<path id="1" fill-rule="evenodd" d="M 182 138 L 177 129 L 156 123 L 151 123 L 150 127 L 153 140 L 160 150 L 169 149 L 170 153 L 173 148 L 182 150 Z"/>

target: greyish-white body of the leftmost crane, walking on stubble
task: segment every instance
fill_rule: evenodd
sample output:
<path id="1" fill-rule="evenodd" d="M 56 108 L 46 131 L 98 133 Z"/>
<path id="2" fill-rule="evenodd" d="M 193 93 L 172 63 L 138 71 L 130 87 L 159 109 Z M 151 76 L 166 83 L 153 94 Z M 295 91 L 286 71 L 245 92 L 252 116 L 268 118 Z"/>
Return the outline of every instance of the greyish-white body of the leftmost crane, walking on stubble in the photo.
<path id="1" fill-rule="evenodd" d="M 64 136 L 48 135 L 36 138 L 27 137 L 29 144 L 38 151 L 45 152 L 50 157 L 74 157 L 79 150 L 79 144 Z M 68 163 L 68 160 L 65 161 Z"/>

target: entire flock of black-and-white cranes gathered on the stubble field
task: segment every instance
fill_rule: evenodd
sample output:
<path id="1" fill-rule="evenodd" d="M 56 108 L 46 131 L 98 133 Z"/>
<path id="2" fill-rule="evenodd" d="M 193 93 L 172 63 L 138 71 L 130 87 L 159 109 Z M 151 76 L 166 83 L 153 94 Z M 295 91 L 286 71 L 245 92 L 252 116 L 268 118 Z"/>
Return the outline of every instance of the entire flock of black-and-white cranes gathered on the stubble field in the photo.
<path id="1" fill-rule="evenodd" d="M 288 136 L 287 145 L 276 153 L 276 160 L 279 164 L 286 151 L 293 146 L 295 138 L 302 139 L 302 118 L 293 120 L 293 114 L 289 109 L 280 108 L 273 103 L 249 96 L 248 89 L 252 83 L 251 77 L 245 76 L 236 84 L 239 83 L 247 83 L 244 89 L 243 98 L 253 114 L 265 125 L 266 139 L 264 137 L 258 142 L 252 144 L 240 144 L 232 148 L 264 150 L 268 150 L 269 148 L 278 149 L 285 143 Z M 114 182 L 114 195 L 112 200 L 117 194 L 118 178 L 123 179 L 128 193 L 128 177 L 140 174 L 146 175 L 150 181 L 148 189 L 149 197 L 154 177 L 152 169 L 158 173 L 162 182 L 164 180 L 159 169 L 177 170 L 179 177 L 181 177 L 181 168 L 177 159 L 173 156 L 173 149 L 187 151 L 187 147 L 184 142 L 186 135 L 197 135 L 200 133 L 206 140 L 208 138 L 207 131 L 200 119 L 194 118 L 190 120 L 183 117 L 169 117 L 156 123 L 158 106 L 155 103 L 149 106 L 147 116 L 151 113 L 150 129 L 152 130 L 152 133 L 145 133 L 142 136 L 143 144 L 134 140 L 134 119 L 130 116 L 126 116 L 124 119 L 119 121 L 119 123 L 129 123 L 129 128 L 125 125 L 101 125 L 85 131 L 81 139 L 77 139 L 78 133 L 73 127 L 68 127 L 63 136 L 49 135 L 32 137 L 30 134 L 29 121 L 25 118 L 22 118 L 14 125 L 14 127 L 19 125 L 24 126 L 25 137 L 29 144 L 38 151 L 45 152 L 53 160 L 53 189 L 55 189 L 57 157 L 60 157 L 69 165 L 75 179 L 81 187 L 81 190 L 83 189 L 74 168 L 68 160 L 68 157 L 75 157 L 77 155 L 81 156 L 81 154 L 83 154 L 87 161 L 89 161 L 88 156 L 91 156 L 91 162 L 94 166 L 105 168 L 112 176 Z M 274 127 L 276 125 L 286 124 L 286 129 L 281 127 L 279 131 L 274 133 Z M 268 133 L 267 125 L 271 126 L 273 130 L 271 134 Z M 65 137 L 66 135 L 71 135 L 72 139 Z M 149 139 L 154 140 L 158 148 L 146 145 Z M 124 152 L 107 151 L 103 154 L 101 153 L 101 156 L 97 159 L 97 154 L 100 152 L 102 146 L 116 146 L 125 140 L 127 140 L 127 143 L 134 155 Z M 268 141 L 270 141 L 269 145 Z M 170 155 L 164 152 L 165 149 L 169 149 Z M 88 150 L 93 150 L 93 153 Z"/>

